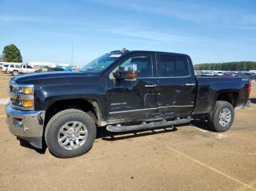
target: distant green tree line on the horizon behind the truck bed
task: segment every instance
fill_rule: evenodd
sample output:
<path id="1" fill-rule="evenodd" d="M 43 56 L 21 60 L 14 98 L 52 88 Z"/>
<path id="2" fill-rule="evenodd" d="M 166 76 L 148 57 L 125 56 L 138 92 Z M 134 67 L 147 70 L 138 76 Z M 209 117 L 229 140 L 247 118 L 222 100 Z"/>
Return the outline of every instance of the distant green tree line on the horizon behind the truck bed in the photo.
<path id="1" fill-rule="evenodd" d="M 195 70 L 249 71 L 256 70 L 256 62 L 200 63 L 196 64 L 194 68 Z"/>

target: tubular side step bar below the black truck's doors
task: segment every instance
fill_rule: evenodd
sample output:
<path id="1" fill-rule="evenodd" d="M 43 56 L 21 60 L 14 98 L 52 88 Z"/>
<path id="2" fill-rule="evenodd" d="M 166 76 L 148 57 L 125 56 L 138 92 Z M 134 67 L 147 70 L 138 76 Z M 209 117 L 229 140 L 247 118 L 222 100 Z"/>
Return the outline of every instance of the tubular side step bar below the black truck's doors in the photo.
<path id="1" fill-rule="evenodd" d="M 192 118 L 187 117 L 186 119 L 178 119 L 172 121 L 162 120 L 159 122 L 143 122 L 140 125 L 128 125 L 128 126 L 121 126 L 121 125 L 108 125 L 107 130 L 111 132 L 124 132 L 124 131 L 131 131 L 131 130 L 144 130 L 144 129 L 151 129 L 151 128 L 160 128 L 170 125 L 180 125 L 184 123 L 191 122 Z"/>

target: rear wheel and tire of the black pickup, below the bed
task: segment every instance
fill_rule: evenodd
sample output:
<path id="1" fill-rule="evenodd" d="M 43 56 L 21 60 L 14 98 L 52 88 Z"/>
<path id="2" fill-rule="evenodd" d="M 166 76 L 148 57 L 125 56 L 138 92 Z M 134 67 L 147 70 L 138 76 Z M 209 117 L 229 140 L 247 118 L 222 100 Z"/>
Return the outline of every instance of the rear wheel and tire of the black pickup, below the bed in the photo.
<path id="1" fill-rule="evenodd" d="M 217 101 L 209 122 L 212 130 L 216 132 L 225 132 L 233 124 L 235 112 L 233 105 L 227 101 Z"/>

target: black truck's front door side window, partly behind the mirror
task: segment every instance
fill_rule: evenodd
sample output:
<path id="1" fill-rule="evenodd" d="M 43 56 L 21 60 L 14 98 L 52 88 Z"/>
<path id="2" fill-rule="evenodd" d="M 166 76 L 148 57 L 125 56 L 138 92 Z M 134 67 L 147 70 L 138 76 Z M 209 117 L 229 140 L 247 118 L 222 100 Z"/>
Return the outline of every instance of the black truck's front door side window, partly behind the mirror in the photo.
<path id="1" fill-rule="evenodd" d="M 138 55 L 128 58 L 121 63 L 119 67 L 125 68 L 125 65 L 135 63 L 137 65 L 138 77 L 152 77 L 152 58 L 150 55 Z"/>

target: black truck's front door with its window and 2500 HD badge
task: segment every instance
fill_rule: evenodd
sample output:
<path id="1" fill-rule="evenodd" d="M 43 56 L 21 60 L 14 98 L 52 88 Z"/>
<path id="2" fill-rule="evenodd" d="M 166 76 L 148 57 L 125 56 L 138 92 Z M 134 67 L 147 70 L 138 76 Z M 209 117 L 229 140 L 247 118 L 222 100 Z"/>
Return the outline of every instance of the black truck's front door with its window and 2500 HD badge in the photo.
<path id="1" fill-rule="evenodd" d="M 138 120 L 157 112 L 157 79 L 153 52 L 136 52 L 124 57 L 118 66 L 136 64 L 138 78 L 108 80 L 108 120 Z"/>

